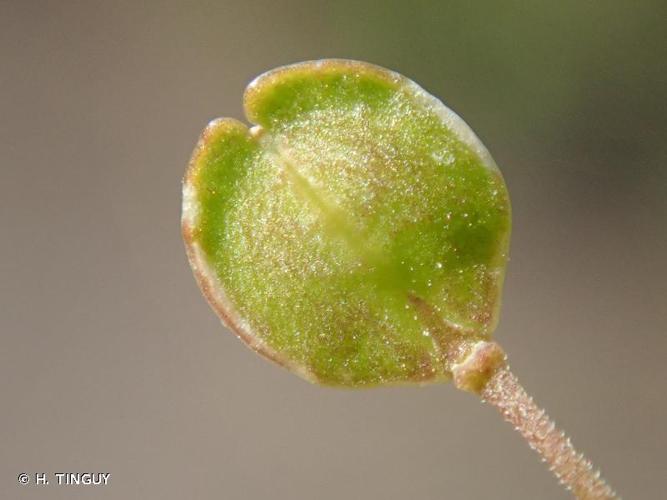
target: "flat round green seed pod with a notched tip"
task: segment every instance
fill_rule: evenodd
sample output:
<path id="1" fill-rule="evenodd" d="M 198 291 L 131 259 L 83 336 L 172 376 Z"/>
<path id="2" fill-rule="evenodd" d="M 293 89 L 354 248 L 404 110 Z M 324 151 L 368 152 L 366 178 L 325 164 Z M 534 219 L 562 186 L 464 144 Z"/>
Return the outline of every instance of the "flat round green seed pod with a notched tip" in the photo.
<path id="1" fill-rule="evenodd" d="M 251 348 L 307 380 L 448 380 L 495 328 L 510 202 L 473 131 L 407 78 L 305 62 L 211 122 L 183 186 L 199 285 Z"/>

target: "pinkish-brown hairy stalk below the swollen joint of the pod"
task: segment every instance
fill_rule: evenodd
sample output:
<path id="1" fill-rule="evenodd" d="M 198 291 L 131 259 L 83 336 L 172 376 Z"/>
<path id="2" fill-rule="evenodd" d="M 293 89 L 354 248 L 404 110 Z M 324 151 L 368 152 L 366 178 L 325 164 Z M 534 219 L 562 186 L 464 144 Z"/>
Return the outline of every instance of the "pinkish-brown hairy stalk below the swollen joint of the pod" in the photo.
<path id="1" fill-rule="evenodd" d="M 600 477 L 600 472 L 593 468 L 582 453 L 574 449 L 570 439 L 533 402 L 507 365 L 500 367 L 491 376 L 480 395 L 521 433 L 530 447 L 549 464 L 560 482 L 577 498 L 619 498 Z"/>

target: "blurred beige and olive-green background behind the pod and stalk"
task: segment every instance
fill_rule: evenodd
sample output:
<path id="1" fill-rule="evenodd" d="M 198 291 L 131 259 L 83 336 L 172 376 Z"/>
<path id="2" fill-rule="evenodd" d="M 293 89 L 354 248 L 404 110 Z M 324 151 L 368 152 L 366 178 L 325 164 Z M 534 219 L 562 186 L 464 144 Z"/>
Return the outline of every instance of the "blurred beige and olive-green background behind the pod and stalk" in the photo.
<path id="1" fill-rule="evenodd" d="M 246 83 L 368 60 L 458 111 L 503 169 L 497 338 L 627 499 L 664 498 L 662 0 L 0 2 L 0 498 L 562 499 L 451 386 L 310 386 L 201 297 L 180 179 Z M 102 488 L 20 486 L 102 471 Z"/>

